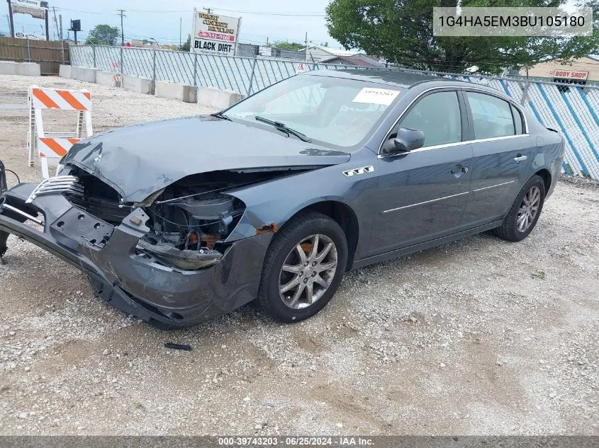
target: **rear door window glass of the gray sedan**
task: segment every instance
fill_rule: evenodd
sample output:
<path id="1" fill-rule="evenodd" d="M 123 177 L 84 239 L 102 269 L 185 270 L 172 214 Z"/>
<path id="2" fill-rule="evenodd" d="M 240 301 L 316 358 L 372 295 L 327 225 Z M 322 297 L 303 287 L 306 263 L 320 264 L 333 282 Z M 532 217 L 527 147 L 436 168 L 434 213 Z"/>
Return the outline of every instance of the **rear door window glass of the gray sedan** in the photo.
<path id="1" fill-rule="evenodd" d="M 466 92 L 466 98 L 468 98 L 472 111 L 475 139 L 490 139 L 516 134 L 512 106 L 508 101 L 475 92 Z M 520 120 L 519 133 L 522 133 L 522 120 Z"/>

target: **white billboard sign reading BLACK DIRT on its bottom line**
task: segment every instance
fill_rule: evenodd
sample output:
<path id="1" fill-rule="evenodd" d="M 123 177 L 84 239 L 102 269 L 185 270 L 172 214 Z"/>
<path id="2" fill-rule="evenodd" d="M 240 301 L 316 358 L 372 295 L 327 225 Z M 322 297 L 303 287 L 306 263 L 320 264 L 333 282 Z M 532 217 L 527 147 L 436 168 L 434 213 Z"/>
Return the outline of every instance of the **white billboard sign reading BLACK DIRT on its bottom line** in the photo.
<path id="1" fill-rule="evenodd" d="M 191 52 L 235 56 L 241 18 L 208 14 L 194 9 Z"/>

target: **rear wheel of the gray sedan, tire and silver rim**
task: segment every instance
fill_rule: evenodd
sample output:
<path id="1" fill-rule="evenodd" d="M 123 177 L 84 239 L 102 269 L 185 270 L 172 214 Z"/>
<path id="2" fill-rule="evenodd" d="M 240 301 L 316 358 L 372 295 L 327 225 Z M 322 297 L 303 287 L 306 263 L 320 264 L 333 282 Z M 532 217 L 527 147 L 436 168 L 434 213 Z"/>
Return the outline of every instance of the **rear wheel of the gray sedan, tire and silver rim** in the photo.
<path id="1" fill-rule="evenodd" d="M 507 241 L 522 241 L 537 225 L 545 200 L 545 182 L 536 174 L 518 193 L 503 223 L 494 233 Z"/>

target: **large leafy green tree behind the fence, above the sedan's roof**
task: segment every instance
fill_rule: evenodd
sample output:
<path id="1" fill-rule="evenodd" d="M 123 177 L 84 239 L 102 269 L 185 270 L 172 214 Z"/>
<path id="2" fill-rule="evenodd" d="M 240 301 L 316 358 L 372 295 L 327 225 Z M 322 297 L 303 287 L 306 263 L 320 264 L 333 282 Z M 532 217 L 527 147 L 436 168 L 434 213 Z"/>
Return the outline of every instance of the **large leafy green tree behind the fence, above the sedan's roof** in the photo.
<path id="1" fill-rule="evenodd" d="M 561 6 L 566 0 L 331 0 L 329 34 L 349 48 L 398 62 L 403 67 L 461 73 L 477 66 L 483 73 L 532 67 L 549 59 L 571 59 L 599 48 L 591 38 L 438 37 L 432 33 L 433 6 Z M 599 5 L 599 0 L 593 0 Z M 588 2 L 586 2 L 588 4 Z M 595 13 L 595 18 L 597 14 Z"/>

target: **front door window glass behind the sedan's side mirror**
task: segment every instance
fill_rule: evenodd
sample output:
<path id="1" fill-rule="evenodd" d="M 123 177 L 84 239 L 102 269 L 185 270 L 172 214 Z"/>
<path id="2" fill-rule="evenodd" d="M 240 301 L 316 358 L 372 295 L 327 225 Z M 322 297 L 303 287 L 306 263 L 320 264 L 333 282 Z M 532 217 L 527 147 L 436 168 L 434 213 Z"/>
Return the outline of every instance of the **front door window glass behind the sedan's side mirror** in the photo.
<path id="1" fill-rule="evenodd" d="M 399 127 L 425 133 L 425 147 L 461 142 L 461 114 L 457 92 L 438 92 L 422 98 Z"/>

